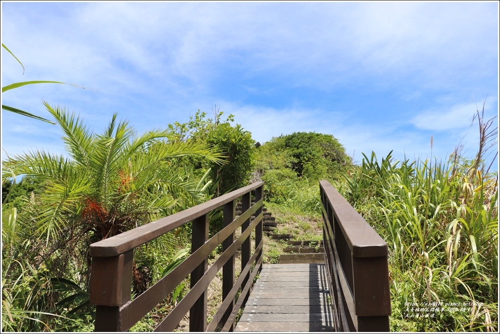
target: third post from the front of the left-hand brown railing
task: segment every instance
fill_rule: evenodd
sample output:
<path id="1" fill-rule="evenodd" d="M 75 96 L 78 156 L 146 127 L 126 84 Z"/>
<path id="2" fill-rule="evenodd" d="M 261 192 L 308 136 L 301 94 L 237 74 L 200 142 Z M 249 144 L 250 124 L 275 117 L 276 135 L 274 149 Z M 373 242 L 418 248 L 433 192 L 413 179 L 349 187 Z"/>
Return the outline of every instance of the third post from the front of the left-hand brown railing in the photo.
<path id="1" fill-rule="evenodd" d="M 233 199 L 223 207 L 223 226 L 229 225 L 236 215 L 236 201 Z M 231 233 L 224 241 L 222 241 L 222 251 L 229 248 L 229 246 L 234 242 L 234 232 Z M 234 285 L 234 254 L 231 255 L 229 260 L 222 266 L 222 300 L 226 298 Z M 231 315 L 232 308 L 234 307 L 234 298 L 227 307 L 227 311 L 222 316 L 222 323 L 225 323 L 229 316 Z M 234 324 L 232 324 L 228 331 L 234 330 Z"/>

